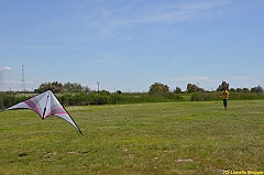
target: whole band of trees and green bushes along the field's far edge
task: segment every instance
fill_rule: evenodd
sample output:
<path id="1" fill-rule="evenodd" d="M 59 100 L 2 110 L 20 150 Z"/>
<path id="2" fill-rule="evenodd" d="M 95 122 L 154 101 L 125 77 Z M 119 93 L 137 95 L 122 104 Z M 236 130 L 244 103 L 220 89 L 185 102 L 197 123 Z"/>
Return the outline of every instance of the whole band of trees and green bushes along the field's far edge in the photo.
<path id="1" fill-rule="evenodd" d="M 220 100 L 220 91 L 228 88 L 231 92 L 231 100 L 264 99 L 261 86 L 246 88 L 229 88 L 229 84 L 222 81 L 215 91 L 206 91 L 195 84 L 188 84 L 183 91 L 179 87 L 169 90 L 169 87 L 162 83 L 154 83 L 147 92 L 109 92 L 107 90 L 90 90 L 77 83 L 61 84 L 57 81 L 41 84 L 35 94 L 46 90 L 55 92 L 59 102 L 64 106 L 82 105 L 118 105 L 118 103 L 142 103 L 142 102 L 176 102 L 176 101 L 211 101 Z M 18 102 L 29 99 L 33 95 L 16 95 L 13 91 L 0 92 L 0 110 L 11 107 Z"/>

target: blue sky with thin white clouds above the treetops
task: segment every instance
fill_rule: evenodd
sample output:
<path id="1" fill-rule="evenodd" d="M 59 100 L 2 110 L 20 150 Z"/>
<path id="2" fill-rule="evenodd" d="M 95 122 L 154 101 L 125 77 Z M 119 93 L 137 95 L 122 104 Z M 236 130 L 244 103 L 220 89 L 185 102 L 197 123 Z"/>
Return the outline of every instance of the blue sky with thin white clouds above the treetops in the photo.
<path id="1" fill-rule="evenodd" d="M 263 0 L 1 0 L 0 90 L 264 87 L 263 17 Z"/>

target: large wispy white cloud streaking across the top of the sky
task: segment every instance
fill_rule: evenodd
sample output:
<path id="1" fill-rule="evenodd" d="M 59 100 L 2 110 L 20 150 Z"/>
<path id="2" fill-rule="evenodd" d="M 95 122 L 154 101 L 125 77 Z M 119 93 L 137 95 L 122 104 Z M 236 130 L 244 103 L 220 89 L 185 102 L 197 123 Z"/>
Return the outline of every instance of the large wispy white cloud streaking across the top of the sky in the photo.
<path id="1" fill-rule="evenodd" d="M 87 2 L 74 6 L 72 14 L 66 19 L 55 19 L 45 24 L 45 26 L 41 26 L 40 30 L 80 30 L 80 35 L 75 36 L 75 39 L 77 37 L 81 41 L 98 36 L 112 37 L 120 35 L 120 30 L 138 30 L 142 25 L 147 25 L 150 29 L 150 24 L 153 23 L 172 25 L 185 21 L 197 22 L 198 20 L 211 19 L 219 14 L 222 15 L 219 11 L 230 3 L 230 0 L 174 1 L 173 3 L 163 1 L 160 3 L 144 3 L 135 1 L 123 7 L 111 8 L 112 6 L 109 4 L 101 6 Z M 90 10 L 90 7 L 94 7 L 94 11 Z"/>

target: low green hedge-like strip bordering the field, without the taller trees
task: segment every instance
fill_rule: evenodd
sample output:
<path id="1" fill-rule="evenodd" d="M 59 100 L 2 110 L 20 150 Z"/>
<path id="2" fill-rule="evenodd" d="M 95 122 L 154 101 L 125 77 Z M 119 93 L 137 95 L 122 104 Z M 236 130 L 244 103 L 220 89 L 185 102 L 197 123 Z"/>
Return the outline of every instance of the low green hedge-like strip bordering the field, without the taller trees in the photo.
<path id="1" fill-rule="evenodd" d="M 122 103 L 144 103 L 144 102 L 175 102 L 175 101 L 212 101 L 221 100 L 221 92 L 193 92 L 190 97 L 167 92 L 166 96 L 155 96 L 148 92 L 134 94 L 110 94 L 107 91 L 86 92 L 66 92 L 57 94 L 56 97 L 63 106 L 86 106 L 86 105 L 122 105 Z M 30 96 L 21 96 L 10 92 L 0 92 L 0 109 L 3 110 L 18 102 L 31 98 Z M 264 94 L 258 92 L 231 92 L 231 100 L 254 100 L 264 99 Z"/>

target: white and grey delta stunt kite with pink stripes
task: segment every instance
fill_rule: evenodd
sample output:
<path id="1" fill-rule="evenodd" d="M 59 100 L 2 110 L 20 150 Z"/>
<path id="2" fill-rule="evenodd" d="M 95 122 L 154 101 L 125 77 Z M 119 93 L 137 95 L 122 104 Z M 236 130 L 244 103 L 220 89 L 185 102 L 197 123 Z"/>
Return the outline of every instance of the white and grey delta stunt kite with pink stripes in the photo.
<path id="1" fill-rule="evenodd" d="M 34 110 L 43 120 L 48 116 L 59 117 L 70 124 L 73 124 L 81 134 L 82 132 L 75 123 L 74 119 L 68 114 L 64 107 L 58 102 L 57 98 L 51 90 L 40 94 L 33 98 L 25 101 L 16 103 L 7 110 L 11 109 L 31 109 Z"/>

